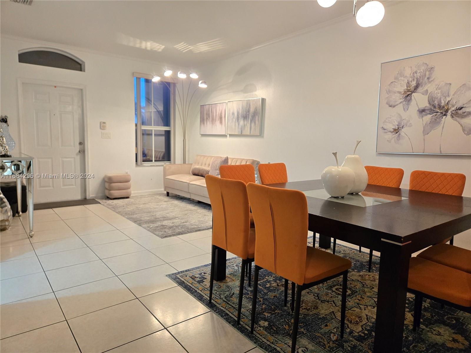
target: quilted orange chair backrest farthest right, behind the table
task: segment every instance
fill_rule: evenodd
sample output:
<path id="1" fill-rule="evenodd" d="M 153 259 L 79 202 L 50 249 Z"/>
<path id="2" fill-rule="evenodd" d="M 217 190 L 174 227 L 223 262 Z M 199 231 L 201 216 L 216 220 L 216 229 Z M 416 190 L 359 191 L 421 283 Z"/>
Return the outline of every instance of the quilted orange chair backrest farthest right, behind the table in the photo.
<path id="1" fill-rule="evenodd" d="M 409 179 L 409 189 L 461 196 L 465 183 L 464 174 L 414 170 Z"/>

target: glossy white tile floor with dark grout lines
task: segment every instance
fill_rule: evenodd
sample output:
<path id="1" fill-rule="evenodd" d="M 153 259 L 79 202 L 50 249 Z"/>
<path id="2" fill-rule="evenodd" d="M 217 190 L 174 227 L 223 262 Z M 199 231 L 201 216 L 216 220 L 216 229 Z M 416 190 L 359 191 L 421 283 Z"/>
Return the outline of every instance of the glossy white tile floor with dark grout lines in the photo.
<path id="1" fill-rule="evenodd" d="M 165 276 L 210 263 L 211 231 L 160 239 L 95 204 L 34 211 L 29 239 L 26 217 L 0 236 L 0 352 L 261 352 Z"/>

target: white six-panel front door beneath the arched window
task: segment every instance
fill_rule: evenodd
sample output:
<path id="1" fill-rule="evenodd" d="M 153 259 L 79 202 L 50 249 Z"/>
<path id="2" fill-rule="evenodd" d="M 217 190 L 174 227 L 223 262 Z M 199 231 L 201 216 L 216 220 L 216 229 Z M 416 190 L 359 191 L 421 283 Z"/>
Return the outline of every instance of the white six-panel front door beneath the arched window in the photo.
<path id="1" fill-rule="evenodd" d="M 23 112 L 23 152 L 34 157 L 40 175 L 34 202 L 84 199 L 81 89 L 24 83 Z"/>

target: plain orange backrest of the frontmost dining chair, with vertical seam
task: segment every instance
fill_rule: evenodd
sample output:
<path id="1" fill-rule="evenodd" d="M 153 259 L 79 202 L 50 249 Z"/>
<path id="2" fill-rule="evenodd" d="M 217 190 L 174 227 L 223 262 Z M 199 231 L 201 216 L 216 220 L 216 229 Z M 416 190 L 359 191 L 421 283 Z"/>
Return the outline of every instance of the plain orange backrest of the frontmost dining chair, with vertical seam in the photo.
<path id="1" fill-rule="evenodd" d="M 308 243 L 308 202 L 297 190 L 247 185 L 255 221 L 255 265 L 303 284 Z"/>

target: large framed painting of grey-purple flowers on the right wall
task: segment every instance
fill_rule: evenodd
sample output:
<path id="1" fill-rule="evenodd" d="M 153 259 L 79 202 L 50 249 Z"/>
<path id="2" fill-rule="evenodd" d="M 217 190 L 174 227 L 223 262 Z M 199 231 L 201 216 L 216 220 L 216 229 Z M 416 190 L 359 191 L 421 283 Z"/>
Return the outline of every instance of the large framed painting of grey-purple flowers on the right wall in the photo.
<path id="1" fill-rule="evenodd" d="M 471 154 L 471 46 L 381 64 L 376 152 Z"/>

